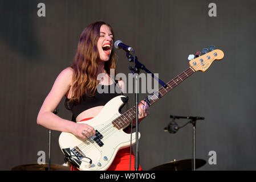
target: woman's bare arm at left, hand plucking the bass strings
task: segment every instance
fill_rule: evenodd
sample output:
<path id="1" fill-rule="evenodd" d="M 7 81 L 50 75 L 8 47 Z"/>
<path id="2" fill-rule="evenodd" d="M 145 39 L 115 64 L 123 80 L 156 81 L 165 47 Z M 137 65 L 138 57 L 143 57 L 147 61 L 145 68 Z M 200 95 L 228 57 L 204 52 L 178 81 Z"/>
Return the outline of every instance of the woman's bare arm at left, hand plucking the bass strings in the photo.
<path id="1" fill-rule="evenodd" d="M 58 117 L 52 113 L 59 105 L 62 98 L 70 89 L 73 76 L 73 69 L 64 69 L 56 78 L 50 93 L 47 95 L 38 113 L 36 122 L 50 130 L 72 133 L 80 138 L 85 138 L 83 130 L 88 131 L 87 137 L 95 135 L 94 128 L 86 124 L 78 124 L 67 119 Z"/>

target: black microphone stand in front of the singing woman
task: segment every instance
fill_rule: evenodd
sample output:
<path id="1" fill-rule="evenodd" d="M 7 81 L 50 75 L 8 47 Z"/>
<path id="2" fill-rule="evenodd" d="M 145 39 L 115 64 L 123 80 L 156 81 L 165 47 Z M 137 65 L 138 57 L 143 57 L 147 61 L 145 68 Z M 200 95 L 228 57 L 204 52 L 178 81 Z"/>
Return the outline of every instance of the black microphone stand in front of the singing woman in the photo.
<path id="1" fill-rule="evenodd" d="M 150 72 L 145 65 L 141 64 L 137 57 L 135 56 L 135 51 L 133 51 L 133 55 L 130 55 L 129 51 L 127 51 L 126 56 L 128 57 L 130 62 L 135 63 L 135 67 L 129 67 L 130 71 L 132 72 L 133 76 L 135 76 L 135 94 L 136 94 L 136 147 L 135 147 L 135 171 L 139 171 L 139 73 L 140 69 L 144 69 L 147 73 L 150 73 L 153 78 L 155 78 L 162 86 L 166 87 L 166 84 L 157 78 L 152 72 Z M 134 59 L 135 58 L 135 59 Z M 134 74 L 134 73 L 135 74 Z"/>

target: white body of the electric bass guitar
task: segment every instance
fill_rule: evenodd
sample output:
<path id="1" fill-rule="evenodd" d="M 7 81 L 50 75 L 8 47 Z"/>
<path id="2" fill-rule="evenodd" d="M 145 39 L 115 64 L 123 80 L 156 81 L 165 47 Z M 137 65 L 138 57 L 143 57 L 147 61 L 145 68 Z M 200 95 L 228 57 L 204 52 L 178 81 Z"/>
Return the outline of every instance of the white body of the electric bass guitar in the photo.
<path id="1" fill-rule="evenodd" d="M 79 122 L 94 127 L 102 137 L 95 140 L 92 137 L 82 140 L 71 133 L 62 132 L 60 134 L 59 146 L 62 152 L 66 156 L 78 155 L 72 156 L 70 159 L 79 170 L 106 170 L 111 166 L 117 151 L 130 146 L 131 135 L 125 133 L 122 129 L 117 129 L 112 124 L 112 121 L 121 115 L 119 109 L 124 105 L 124 102 L 121 100 L 122 97 L 125 96 L 112 98 L 95 118 Z M 135 142 L 136 135 L 133 133 L 132 144 Z M 87 158 L 83 158 L 83 155 Z M 88 158 L 92 160 L 91 165 Z"/>

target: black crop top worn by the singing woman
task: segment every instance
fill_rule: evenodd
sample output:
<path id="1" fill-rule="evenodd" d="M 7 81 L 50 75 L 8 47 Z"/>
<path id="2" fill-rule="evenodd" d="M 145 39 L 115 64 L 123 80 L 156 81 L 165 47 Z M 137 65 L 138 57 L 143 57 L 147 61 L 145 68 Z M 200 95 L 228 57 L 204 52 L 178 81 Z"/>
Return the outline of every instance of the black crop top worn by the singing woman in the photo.
<path id="1" fill-rule="evenodd" d="M 118 82 L 116 81 L 116 85 L 118 85 Z M 65 107 L 68 110 L 72 111 L 72 121 L 76 122 L 76 117 L 83 111 L 90 109 L 92 107 L 96 106 L 104 106 L 107 104 L 108 101 L 110 101 L 112 98 L 116 96 L 120 96 L 121 90 L 119 89 L 119 85 L 116 86 L 115 83 L 111 85 L 101 85 L 98 84 L 97 87 L 101 86 L 100 90 L 108 90 L 108 93 L 99 93 L 97 90 L 95 91 L 95 96 L 88 96 L 87 94 L 84 94 L 82 99 L 80 100 L 80 103 L 78 102 L 69 102 L 68 98 L 65 100 Z M 116 88 L 117 87 L 117 88 Z M 117 92 L 116 92 L 116 89 Z M 111 92 L 112 91 L 112 92 Z M 119 91 L 119 92 L 118 92 Z M 115 92 L 115 93 L 113 93 Z"/>

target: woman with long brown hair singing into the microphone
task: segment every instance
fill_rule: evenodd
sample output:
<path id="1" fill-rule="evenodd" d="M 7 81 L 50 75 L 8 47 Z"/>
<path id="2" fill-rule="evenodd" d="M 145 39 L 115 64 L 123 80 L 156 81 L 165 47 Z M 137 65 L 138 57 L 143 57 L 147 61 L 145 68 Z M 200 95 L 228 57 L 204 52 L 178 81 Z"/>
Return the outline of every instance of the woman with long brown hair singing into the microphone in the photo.
<path id="1" fill-rule="evenodd" d="M 109 88 L 118 85 L 123 90 L 124 82 L 110 77 L 110 69 L 116 68 L 113 51 L 113 30 L 109 24 L 95 22 L 87 26 L 80 36 L 78 49 L 71 67 L 64 69 L 56 78 L 50 93 L 43 102 L 38 113 L 37 123 L 50 130 L 72 133 L 86 139 L 95 135 L 95 129 L 85 123 L 78 123 L 94 118 L 104 105 L 117 93 L 98 93 L 97 86 Z M 116 73 L 116 72 L 115 72 Z M 101 74 L 101 79 L 97 76 Z M 63 119 L 52 113 L 66 97 L 66 108 L 72 111 L 72 121 Z M 139 122 L 149 114 L 146 102 L 139 105 Z M 135 120 L 133 121 L 135 124 Z M 119 150 L 108 170 L 129 170 L 129 147 Z M 132 154 L 131 169 L 134 169 Z M 141 170 L 141 167 L 139 168 Z M 71 170 L 77 170 L 71 166 Z"/>

